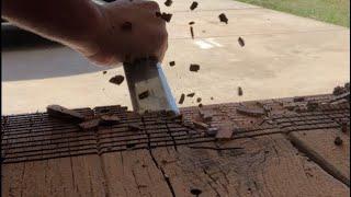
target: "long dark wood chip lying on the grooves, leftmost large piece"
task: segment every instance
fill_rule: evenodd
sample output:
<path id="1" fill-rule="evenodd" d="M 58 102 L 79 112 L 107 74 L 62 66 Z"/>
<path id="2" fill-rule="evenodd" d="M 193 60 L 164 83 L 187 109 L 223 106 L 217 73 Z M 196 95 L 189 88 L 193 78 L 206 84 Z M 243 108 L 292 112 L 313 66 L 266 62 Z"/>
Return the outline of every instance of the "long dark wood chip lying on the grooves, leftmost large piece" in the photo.
<path id="1" fill-rule="evenodd" d="M 46 107 L 46 112 L 48 116 L 55 117 L 58 119 L 64 119 L 72 123 L 81 123 L 84 120 L 84 116 L 79 114 L 78 112 L 65 108 L 59 105 L 48 105 Z"/>

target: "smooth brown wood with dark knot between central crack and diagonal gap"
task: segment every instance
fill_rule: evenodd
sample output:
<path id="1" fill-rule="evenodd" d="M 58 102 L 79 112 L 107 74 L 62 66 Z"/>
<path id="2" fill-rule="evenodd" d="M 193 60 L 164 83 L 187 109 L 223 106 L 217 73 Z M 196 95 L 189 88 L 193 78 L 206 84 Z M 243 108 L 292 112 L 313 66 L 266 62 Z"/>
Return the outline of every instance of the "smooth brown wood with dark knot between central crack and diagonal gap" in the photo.
<path id="1" fill-rule="evenodd" d="M 200 146 L 200 144 L 197 144 Z M 215 147 L 215 143 L 201 144 Z M 350 189 L 298 154 L 282 135 L 238 139 L 244 150 L 158 148 L 152 154 L 177 196 L 348 196 Z"/>

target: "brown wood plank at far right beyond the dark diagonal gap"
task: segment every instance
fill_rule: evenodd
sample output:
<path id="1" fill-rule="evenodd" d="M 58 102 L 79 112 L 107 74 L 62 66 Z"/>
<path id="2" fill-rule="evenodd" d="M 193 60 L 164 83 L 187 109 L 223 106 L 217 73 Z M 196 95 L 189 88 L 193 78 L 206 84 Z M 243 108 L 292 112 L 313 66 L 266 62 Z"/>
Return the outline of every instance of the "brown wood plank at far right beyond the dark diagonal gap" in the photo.
<path id="1" fill-rule="evenodd" d="M 350 186 L 350 136 L 340 129 L 316 129 L 291 132 L 290 137 L 297 148 Z M 336 137 L 342 140 L 341 146 L 335 144 Z"/>

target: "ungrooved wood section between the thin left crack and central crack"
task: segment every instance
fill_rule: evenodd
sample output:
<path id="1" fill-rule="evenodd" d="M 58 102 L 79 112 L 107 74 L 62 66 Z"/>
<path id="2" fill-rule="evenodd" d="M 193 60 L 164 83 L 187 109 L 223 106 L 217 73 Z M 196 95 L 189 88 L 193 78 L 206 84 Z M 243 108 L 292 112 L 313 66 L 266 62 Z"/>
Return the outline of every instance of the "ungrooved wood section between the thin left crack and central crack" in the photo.
<path id="1" fill-rule="evenodd" d="M 171 196 L 148 150 L 101 155 L 110 196 Z"/>

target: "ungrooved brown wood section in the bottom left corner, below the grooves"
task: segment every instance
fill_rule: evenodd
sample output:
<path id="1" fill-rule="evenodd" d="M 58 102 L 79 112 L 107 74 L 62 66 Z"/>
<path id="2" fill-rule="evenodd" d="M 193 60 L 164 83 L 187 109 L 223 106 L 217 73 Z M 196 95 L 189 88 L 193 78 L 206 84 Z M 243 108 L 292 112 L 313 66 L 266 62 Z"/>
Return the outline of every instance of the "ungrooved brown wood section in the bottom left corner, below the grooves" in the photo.
<path id="1" fill-rule="evenodd" d="M 2 166 L 2 196 L 105 196 L 98 155 Z"/>

